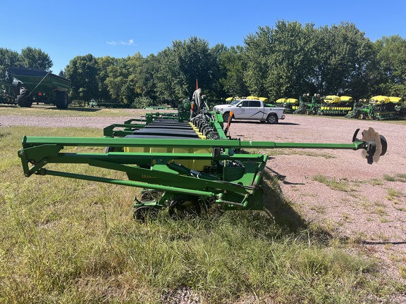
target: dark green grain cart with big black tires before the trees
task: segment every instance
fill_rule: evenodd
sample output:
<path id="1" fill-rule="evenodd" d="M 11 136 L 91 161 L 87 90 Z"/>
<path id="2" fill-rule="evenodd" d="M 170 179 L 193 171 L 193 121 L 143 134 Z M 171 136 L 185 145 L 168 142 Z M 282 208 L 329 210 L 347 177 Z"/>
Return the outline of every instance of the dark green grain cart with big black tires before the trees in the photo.
<path id="1" fill-rule="evenodd" d="M 32 103 L 54 104 L 68 108 L 70 80 L 51 72 L 31 68 L 8 68 L 13 80 L 1 81 L 0 103 L 29 108 Z"/>

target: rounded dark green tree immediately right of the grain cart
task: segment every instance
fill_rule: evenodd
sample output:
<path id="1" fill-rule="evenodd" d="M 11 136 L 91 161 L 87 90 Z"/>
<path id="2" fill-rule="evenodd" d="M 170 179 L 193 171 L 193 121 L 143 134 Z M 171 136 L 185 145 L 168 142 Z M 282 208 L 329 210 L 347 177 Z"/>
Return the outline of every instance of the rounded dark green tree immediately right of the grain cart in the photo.
<path id="1" fill-rule="evenodd" d="M 92 54 L 73 58 L 66 67 L 66 77 L 71 82 L 71 98 L 88 103 L 98 95 L 97 60 Z"/>

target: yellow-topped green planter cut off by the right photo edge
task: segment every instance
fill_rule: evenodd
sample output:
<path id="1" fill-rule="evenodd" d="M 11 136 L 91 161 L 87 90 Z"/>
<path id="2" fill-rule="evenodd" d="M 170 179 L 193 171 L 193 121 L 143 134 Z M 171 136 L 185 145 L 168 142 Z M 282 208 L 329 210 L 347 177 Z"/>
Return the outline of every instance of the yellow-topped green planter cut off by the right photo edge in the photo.
<path id="1" fill-rule="evenodd" d="M 406 118 L 406 104 L 400 97 L 374 96 L 369 101 L 360 100 L 346 118 L 366 120 L 397 120 Z"/>

